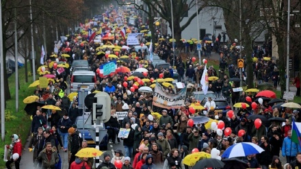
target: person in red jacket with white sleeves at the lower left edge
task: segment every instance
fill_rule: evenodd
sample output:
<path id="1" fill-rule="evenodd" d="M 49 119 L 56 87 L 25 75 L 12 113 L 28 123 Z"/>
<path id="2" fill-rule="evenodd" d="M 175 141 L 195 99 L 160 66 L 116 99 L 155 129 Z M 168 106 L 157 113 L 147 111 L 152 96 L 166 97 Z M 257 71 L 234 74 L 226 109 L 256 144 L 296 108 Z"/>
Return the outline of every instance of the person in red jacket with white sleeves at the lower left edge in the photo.
<path id="1" fill-rule="evenodd" d="M 6 145 L 11 153 L 10 159 L 5 163 L 6 168 L 11 169 L 10 164 L 14 163 L 16 169 L 20 169 L 20 161 L 22 155 L 22 143 L 21 140 L 18 138 L 18 135 L 13 134 L 10 136 L 12 138 L 12 143 L 10 145 Z M 14 154 L 18 154 L 18 158 L 13 159 Z"/>

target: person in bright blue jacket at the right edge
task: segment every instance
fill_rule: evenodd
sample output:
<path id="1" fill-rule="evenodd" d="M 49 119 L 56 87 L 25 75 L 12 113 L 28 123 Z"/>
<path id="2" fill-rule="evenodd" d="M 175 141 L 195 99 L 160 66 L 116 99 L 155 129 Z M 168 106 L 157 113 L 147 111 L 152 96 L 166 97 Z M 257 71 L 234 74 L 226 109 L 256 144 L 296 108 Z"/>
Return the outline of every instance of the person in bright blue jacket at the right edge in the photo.
<path id="1" fill-rule="evenodd" d="M 301 153 L 300 144 L 291 141 L 291 130 L 287 132 L 287 137 L 283 140 L 282 155 L 287 157 L 287 163 L 296 159 L 298 153 Z"/>

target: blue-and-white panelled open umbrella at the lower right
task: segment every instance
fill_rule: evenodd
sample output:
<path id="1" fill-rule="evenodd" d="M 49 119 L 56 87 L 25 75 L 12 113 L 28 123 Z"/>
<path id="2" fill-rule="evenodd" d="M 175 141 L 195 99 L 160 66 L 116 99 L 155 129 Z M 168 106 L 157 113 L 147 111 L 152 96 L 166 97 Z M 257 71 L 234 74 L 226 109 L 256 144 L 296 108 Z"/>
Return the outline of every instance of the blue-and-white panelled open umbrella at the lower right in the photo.
<path id="1" fill-rule="evenodd" d="M 263 148 L 252 142 L 239 142 L 227 148 L 222 154 L 222 158 L 246 157 L 263 151 Z"/>

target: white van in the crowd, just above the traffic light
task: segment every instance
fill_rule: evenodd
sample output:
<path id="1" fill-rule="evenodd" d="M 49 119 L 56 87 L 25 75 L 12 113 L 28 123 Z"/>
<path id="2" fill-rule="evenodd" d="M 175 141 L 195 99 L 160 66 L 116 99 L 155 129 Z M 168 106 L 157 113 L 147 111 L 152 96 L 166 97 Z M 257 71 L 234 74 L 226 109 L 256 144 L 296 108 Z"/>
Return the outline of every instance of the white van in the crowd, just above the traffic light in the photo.
<path id="1" fill-rule="evenodd" d="M 96 75 L 93 71 L 75 71 L 70 80 L 70 91 L 77 91 L 80 87 L 81 90 L 92 90 L 96 83 Z"/>

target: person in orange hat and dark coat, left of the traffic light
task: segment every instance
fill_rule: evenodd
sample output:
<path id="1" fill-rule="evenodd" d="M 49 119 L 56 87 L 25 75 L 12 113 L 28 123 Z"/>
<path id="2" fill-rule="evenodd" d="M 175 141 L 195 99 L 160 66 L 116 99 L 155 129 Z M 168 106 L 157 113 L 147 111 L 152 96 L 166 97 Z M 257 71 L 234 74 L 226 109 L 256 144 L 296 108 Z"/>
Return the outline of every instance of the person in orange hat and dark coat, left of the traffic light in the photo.
<path id="1" fill-rule="evenodd" d="M 68 129 L 68 134 L 70 135 L 70 160 L 69 160 L 69 169 L 73 161 L 75 161 L 75 154 L 79 151 L 79 148 L 81 147 L 81 142 L 79 139 L 79 135 L 75 132 L 75 128 L 70 127 Z"/>

